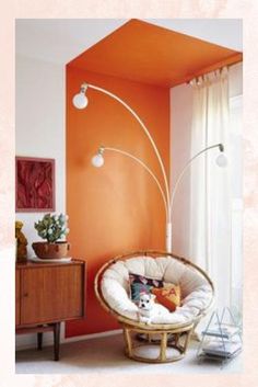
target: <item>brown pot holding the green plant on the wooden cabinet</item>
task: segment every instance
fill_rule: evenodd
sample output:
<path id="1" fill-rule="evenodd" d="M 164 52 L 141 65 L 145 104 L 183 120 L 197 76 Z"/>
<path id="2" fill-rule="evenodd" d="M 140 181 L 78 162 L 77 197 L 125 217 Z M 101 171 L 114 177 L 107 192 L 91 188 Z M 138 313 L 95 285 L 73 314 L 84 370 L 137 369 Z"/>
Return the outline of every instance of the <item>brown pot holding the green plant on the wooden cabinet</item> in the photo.
<path id="1" fill-rule="evenodd" d="M 34 242 L 32 243 L 35 254 L 40 259 L 60 259 L 66 258 L 70 250 L 70 243 L 67 241 L 60 242 Z"/>

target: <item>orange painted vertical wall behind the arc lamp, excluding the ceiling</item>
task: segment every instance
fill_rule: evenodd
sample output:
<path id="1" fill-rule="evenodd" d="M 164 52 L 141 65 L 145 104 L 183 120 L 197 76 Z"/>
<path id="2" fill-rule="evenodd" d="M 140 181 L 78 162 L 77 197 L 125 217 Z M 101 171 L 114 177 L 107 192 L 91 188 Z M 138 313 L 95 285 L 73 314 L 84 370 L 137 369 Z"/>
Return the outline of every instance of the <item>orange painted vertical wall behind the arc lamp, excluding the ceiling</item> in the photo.
<path id="1" fill-rule="evenodd" d="M 86 319 L 67 325 L 68 337 L 118 328 L 94 295 L 96 271 L 108 259 L 139 249 L 164 249 L 165 210 L 161 194 L 142 167 L 106 152 L 96 169 L 91 158 L 101 145 L 127 150 L 160 177 L 154 151 L 139 123 L 118 102 L 89 89 L 79 111 L 72 96 L 83 81 L 124 99 L 143 119 L 161 151 L 168 175 L 169 89 L 67 67 L 67 213 L 72 257 L 87 262 Z"/>

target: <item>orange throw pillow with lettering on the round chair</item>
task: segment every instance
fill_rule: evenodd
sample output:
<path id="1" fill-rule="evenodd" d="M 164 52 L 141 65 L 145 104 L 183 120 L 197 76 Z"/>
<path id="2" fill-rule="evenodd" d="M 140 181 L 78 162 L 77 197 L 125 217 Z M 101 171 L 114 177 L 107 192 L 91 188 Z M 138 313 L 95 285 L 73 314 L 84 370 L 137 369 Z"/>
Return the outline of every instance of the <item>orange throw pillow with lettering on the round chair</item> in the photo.
<path id="1" fill-rule="evenodd" d="M 165 285 L 164 287 L 153 287 L 151 289 L 156 296 L 156 301 L 165 306 L 168 310 L 176 310 L 177 306 L 180 306 L 180 286 L 179 285 Z"/>

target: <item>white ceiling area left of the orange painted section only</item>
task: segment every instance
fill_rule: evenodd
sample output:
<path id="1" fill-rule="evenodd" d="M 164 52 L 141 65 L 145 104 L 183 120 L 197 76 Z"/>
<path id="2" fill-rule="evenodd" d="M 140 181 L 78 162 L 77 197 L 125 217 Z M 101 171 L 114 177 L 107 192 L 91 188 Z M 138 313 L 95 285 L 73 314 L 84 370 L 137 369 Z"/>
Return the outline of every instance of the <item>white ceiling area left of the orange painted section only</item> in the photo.
<path id="1" fill-rule="evenodd" d="M 124 23 L 119 19 L 20 19 L 16 53 L 64 65 Z"/>

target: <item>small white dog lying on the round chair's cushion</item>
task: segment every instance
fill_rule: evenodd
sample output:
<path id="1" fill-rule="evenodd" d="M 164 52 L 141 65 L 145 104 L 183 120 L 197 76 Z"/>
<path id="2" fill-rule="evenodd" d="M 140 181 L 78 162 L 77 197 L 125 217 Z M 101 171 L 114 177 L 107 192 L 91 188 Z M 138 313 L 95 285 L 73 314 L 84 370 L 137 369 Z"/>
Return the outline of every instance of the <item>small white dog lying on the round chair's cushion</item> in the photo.
<path id="1" fill-rule="evenodd" d="M 155 298 L 156 296 L 154 294 L 140 294 L 140 299 L 138 304 L 138 316 L 140 322 L 145 322 L 150 325 L 156 316 L 169 314 L 169 310 L 167 308 L 165 308 L 161 304 L 155 303 Z"/>

